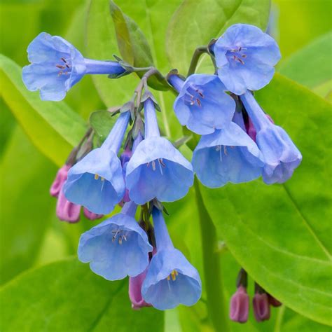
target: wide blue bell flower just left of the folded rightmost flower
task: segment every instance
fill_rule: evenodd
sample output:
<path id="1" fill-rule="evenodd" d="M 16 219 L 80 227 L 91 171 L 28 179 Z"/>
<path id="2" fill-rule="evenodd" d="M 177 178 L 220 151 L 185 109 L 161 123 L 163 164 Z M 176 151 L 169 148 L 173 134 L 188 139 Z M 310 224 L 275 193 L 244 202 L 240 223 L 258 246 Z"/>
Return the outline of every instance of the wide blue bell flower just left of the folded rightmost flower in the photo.
<path id="1" fill-rule="evenodd" d="M 227 127 L 202 136 L 193 152 L 193 169 L 202 184 L 218 188 L 257 179 L 263 170 L 263 155 L 244 131 L 242 115 L 235 112 Z"/>

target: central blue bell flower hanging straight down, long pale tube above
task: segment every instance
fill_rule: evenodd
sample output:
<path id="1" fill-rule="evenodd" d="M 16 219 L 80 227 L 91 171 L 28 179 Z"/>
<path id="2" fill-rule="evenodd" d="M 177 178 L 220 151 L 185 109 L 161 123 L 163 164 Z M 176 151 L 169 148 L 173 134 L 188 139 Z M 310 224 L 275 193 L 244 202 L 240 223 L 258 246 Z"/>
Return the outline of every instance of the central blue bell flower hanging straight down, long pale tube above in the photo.
<path id="1" fill-rule="evenodd" d="M 144 102 L 145 139 L 127 163 L 125 183 L 129 197 L 142 205 L 153 198 L 173 202 L 193 185 L 193 167 L 167 139 L 160 137 L 151 99 Z"/>

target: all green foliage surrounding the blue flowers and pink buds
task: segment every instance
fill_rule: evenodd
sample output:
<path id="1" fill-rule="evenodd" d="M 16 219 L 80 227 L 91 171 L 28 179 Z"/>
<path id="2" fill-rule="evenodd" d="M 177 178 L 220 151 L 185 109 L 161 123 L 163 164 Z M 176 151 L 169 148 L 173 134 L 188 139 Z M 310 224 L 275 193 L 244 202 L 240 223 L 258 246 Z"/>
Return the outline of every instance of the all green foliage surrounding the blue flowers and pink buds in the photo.
<path id="1" fill-rule="evenodd" d="M 20 78 L 26 48 L 46 31 L 86 57 L 110 60 L 116 53 L 139 66 L 153 62 L 163 74 L 172 68 L 186 74 L 195 47 L 229 25 L 265 29 L 270 2 L 116 5 L 110 11 L 109 0 L 1 1 L 1 331 L 331 331 L 331 1 L 272 2 L 271 31 L 283 57 L 279 74 L 256 97 L 289 132 L 303 163 L 284 185 L 257 180 L 212 191 L 196 183 L 186 198 L 167 205 L 174 244 L 203 282 L 197 305 L 167 312 L 134 312 L 127 280 L 107 282 L 78 262 L 78 238 L 98 221 L 58 221 L 48 194 L 90 112 L 126 102 L 139 78 L 85 77 L 64 102 L 41 102 Z M 209 70 L 202 57 L 198 71 Z M 174 96 L 155 96 L 162 132 L 178 139 Z M 188 158 L 192 144 L 181 148 Z M 240 265 L 284 303 L 270 321 L 257 324 L 252 310 L 245 325 L 228 321 Z"/>

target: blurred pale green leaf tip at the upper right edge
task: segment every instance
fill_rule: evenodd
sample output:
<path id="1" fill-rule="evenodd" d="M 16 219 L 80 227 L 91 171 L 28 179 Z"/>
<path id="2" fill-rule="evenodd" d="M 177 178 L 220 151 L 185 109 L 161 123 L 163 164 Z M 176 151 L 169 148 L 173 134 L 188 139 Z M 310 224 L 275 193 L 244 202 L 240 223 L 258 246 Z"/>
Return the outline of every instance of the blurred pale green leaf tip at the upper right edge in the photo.
<path id="1" fill-rule="evenodd" d="M 279 72 L 307 88 L 315 88 L 331 80 L 331 51 L 332 32 L 328 32 L 288 57 Z"/>

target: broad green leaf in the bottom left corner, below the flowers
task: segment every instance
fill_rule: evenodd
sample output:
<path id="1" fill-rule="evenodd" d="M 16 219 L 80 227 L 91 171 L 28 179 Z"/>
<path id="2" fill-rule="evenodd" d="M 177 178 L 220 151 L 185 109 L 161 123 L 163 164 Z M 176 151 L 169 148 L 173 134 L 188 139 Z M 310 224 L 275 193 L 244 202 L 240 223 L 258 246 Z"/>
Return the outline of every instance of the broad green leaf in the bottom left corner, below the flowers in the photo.
<path id="1" fill-rule="evenodd" d="M 109 282 L 77 258 L 30 270 L 0 296 L 1 331 L 163 331 L 163 312 L 132 310 L 127 280 Z"/>

